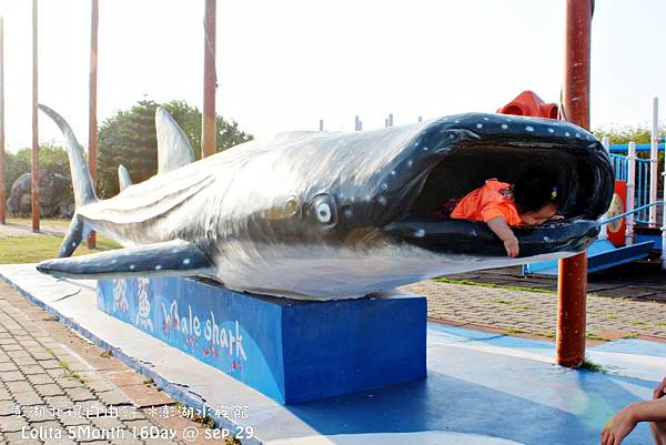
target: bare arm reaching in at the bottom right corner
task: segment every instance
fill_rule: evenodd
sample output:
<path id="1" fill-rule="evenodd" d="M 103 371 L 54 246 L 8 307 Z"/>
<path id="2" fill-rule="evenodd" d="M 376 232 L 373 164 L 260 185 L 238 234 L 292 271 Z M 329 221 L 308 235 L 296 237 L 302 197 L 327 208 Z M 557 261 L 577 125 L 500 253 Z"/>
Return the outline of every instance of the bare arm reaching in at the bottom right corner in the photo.
<path id="1" fill-rule="evenodd" d="M 666 400 L 632 403 L 606 423 L 602 431 L 602 445 L 619 445 L 638 422 L 664 421 L 666 421 Z"/>

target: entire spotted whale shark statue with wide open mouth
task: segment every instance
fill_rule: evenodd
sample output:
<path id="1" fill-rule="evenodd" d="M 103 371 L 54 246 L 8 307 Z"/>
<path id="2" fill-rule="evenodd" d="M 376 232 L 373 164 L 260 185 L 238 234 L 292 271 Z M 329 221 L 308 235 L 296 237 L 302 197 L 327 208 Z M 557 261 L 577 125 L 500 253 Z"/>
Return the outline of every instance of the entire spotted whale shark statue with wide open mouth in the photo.
<path id="1" fill-rule="evenodd" d="M 67 277 L 208 276 L 233 290 L 350 299 L 420 280 L 564 257 L 598 234 L 613 193 L 607 153 L 563 122 L 468 113 L 367 132 L 292 132 L 190 162 L 186 139 L 158 113 L 159 173 L 98 200 L 67 122 L 77 210 L 57 260 Z M 184 142 L 183 142 L 184 140 Z M 180 142 L 179 142 L 180 141 Z M 558 178 L 565 220 L 514 227 L 521 257 L 481 222 L 433 219 L 488 178 L 541 168 Z M 89 230 L 127 249 L 68 257 Z"/>

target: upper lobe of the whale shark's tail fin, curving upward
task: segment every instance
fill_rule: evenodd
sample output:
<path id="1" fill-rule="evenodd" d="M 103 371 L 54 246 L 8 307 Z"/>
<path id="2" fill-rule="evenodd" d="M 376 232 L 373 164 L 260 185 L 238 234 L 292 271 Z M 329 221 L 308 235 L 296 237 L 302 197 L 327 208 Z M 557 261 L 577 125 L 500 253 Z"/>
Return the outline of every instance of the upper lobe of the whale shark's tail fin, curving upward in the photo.
<path id="1" fill-rule="evenodd" d="M 67 145 L 67 154 L 70 161 L 70 173 L 72 175 L 72 185 L 74 188 L 74 203 L 77 209 L 81 205 L 90 204 L 95 202 L 97 195 L 94 194 L 94 188 L 92 186 L 92 179 L 90 171 L 88 170 L 88 162 L 83 155 L 83 149 L 77 141 L 72 129 L 67 121 L 50 108 L 39 104 L 41 111 L 43 111 L 49 118 L 56 122 Z"/>

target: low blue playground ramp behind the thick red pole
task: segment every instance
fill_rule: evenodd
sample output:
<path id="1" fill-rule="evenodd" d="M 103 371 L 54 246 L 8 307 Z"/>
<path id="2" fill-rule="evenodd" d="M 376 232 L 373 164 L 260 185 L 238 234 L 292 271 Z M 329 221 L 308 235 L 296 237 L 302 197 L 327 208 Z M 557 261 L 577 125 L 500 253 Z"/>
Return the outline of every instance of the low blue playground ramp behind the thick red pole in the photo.
<path id="1" fill-rule="evenodd" d="M 659 243 L 660 244 L 660 243 Z M 587 273 L 594 273 L 619 264 L 630 263 L 649 255 L 654 241 L 643 241 L 624 247 L 616 247 L 608 240 L 595 240 L 587 250 Z M 523 266 L 524 274 L 541 273 L 557 275 L 557 261 L 529 263 Z"/>

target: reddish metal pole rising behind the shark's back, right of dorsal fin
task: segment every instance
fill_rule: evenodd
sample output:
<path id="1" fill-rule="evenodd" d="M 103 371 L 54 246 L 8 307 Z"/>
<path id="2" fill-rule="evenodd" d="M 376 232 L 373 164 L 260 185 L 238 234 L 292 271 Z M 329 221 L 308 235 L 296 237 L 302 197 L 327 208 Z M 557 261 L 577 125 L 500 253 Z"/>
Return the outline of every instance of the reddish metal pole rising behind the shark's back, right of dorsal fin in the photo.
<path id="1" fill-rule="evenodd" d="M 215 9 L 216 0 L 205 0 L 203 19 L 203 119 L 201 130 L 202 156 L 215 154 Z"/>

